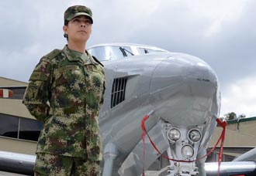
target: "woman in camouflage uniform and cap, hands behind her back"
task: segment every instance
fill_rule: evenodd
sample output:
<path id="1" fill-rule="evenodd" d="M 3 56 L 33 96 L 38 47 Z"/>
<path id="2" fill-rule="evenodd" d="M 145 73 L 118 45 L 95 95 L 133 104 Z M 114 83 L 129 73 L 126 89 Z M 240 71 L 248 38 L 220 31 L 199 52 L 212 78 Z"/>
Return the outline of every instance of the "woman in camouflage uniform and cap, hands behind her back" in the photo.
<path id="1" fill-rule="evenodd" d="M 64 12 L 67 46 L 40 59 L 23 103 L 43 129 L 36 148 L 36 175 L 99 175 L 102 143 L 98 115 L 105 75 L 85 50 L 92 11 L 82 5 Z"/>

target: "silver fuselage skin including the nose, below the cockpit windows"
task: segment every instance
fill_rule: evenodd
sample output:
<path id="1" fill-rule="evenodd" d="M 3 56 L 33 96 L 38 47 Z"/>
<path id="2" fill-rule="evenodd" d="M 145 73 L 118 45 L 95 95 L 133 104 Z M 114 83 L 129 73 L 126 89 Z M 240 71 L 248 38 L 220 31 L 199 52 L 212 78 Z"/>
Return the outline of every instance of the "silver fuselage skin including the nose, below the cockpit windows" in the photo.
<path id="1" fill-rule="evenodd" d="M 126 57 L 105 62 L 104 66 L 106 93 L 99 126 L 103 148 L 109 142 L 116 144 L 120 162 L 140 141 L 140 123 L 150 110 L 156 113 L 147 120 L 148 129 L 160 118 L 188 127 L 209 123 L 218 116 L 219 82 L 201 59 L 168 52 Z M 112 83 L 120 77 L 127 77 L 125 100 L 111 108 Z M 212 132 L 205 131 L 205 144 Z"/>

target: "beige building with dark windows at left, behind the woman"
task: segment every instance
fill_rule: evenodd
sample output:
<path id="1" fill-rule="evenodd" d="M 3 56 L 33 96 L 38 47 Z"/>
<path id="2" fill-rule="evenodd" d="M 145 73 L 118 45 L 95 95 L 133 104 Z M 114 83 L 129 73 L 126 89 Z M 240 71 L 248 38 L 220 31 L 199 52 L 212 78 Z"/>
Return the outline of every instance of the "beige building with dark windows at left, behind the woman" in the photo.
<path id="1" fill-rule="evenodd" d="M 12 90 L 12 97 L 0 98 L 0 151 L 35 154 L 42 124 L 22 104 L 28 83 L 0 76 L 0 89 Z"/>

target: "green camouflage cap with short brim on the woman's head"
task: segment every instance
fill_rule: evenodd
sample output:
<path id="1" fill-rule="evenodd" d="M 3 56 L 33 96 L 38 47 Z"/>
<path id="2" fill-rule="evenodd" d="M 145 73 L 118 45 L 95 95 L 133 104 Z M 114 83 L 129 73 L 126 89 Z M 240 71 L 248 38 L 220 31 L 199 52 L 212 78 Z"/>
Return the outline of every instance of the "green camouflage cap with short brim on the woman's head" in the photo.
<path id="1" fill-rule="evenodd" d="M 88 16 L 93 23 L 91 8 L 85 7 L 84 5 L 74 5 L 67 8 L 67 10 L 64 12 L 64 25 L 67 25 L 69 20 L 74 19 L 74 17 L 79 15 Z"/>

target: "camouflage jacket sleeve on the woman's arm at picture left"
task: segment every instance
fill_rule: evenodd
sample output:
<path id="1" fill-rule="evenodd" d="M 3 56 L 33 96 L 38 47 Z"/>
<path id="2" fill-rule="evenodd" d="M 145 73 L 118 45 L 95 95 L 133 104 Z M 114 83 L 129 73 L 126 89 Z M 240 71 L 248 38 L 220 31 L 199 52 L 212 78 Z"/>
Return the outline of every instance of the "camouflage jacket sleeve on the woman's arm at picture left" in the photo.
<path id="1" fill-rule="evenodd" d="M 29 78 L 29 86 L 26 88 L 22 101 L 29 113 L 43 123 L 49 117 L 50 111 L 50 106 L 47 104 L 51 81 L 50 73 L 50 60 L 47 57 L 43 57 Z"/>

